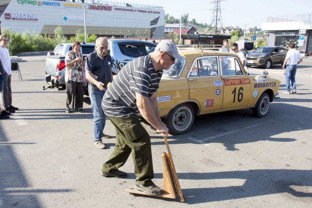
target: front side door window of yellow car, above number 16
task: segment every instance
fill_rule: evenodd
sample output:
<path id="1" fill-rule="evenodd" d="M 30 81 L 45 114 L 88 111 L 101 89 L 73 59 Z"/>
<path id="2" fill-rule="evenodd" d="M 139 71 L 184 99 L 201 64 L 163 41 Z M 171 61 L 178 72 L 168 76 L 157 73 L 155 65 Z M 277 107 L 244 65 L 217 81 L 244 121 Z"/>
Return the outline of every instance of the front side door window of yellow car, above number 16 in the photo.
<path id="1" fill-rule="evenodd" d="M 238 59 L 234 57 L 221 57 L 221 71 L 223 76 L 244 74 Z"/>

